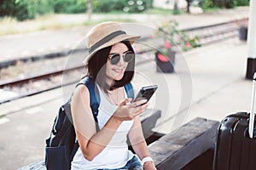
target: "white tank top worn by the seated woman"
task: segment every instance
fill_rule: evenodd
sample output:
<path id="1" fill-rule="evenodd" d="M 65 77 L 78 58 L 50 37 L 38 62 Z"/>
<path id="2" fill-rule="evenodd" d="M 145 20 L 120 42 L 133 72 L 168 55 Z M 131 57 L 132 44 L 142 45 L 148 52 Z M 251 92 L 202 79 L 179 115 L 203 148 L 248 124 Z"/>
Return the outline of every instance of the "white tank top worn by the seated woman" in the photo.
<path id="1" fill-rule="evenodd" d="M 109 103 L 105 95 L 102 94 L 102 90 L 99 88 L 99 86 L 97 87 L 101 97 L 97 119 L 100 129 L 102 129 L 106 122 L 108 122 L 108 119 L 113 115 L 113 112 L 116 111 L 117 105 L 112 105 Z M 127 98 L 126 93 L 125 98 Z M 95 170 L 102 168 L 115 169 L 125 167 L 127 161 L 131 160 L 132 156 L 134 156 L 134 154 L 128 150 L 128 145 L 126 143 L 127 134 L 131 129 L 132 124 L 133 120 L 122 122 L 106 148 L 102 150 L 102 152 L 99 153 L 92 161 L 88 161 L 84 158 L 79 147 L 78 151 L 73 157 L 71 169 Z"/>

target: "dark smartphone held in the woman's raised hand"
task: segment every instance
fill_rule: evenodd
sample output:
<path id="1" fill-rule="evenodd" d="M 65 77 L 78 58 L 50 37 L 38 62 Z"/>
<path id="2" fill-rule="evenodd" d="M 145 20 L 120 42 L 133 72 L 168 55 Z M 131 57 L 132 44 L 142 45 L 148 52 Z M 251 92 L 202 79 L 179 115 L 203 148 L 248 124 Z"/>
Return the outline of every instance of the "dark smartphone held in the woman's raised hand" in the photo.
<path id="1" fill-rule="evenodd" d="M 146 87 L 141 88 L 139 93 L 137 94 L 136 98 L 133 99 L 132 102 L 136 102 L 141 99 L 149 100 L 157 88 L 158 88 L 157 85 L 146 86 Z"/>

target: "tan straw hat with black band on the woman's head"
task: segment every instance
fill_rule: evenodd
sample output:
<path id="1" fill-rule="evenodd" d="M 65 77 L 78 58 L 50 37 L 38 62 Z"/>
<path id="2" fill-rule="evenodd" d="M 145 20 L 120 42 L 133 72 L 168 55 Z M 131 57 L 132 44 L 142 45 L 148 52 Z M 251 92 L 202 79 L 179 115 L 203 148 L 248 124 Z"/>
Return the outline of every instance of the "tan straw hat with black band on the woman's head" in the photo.
<path id="1" fill-rule="evenodd" d="M 86 56 L 83 63 L 87 65 L 90 58 L 102 48 L 107 48 L 125 40 L 132 44 L 138 38 L 140 37 L 126 34 L 118 22 L 108 21 L 96 25 L 86 35 L 89 55 Z"/>

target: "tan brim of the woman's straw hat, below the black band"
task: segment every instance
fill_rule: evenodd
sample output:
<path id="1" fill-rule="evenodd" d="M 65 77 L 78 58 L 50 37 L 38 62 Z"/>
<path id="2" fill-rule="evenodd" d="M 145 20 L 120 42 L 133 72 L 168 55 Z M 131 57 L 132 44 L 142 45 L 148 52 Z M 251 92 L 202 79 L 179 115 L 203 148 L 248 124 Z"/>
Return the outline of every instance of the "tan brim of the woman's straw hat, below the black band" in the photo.
<path id="1" fill-rule="evenodd" d="M 101 50 L 102 48 L 107 48 L 109 46 L 112 46 L 113 44 L 116 44 L 118 42 L 122 42 L 122 41 L 129 41 L 131 44 L 135 41 L 137 41 L 137 39 L 139 39 L 140 36 L 131 36 L 131 35 L 127 35 L 127 34 L 123 34 L 123 35 L 119 35 L 117 37 L 113 37 L 113 39 L 111 39 L 109 42 L 104 43 L 102 46 L 96 48 L 91 54 L 88 54 L 85 59 L 83 60 L 83 63 L 85 65 L 88 64 L 90 58 L 96 54 L 97 51 Z"/>

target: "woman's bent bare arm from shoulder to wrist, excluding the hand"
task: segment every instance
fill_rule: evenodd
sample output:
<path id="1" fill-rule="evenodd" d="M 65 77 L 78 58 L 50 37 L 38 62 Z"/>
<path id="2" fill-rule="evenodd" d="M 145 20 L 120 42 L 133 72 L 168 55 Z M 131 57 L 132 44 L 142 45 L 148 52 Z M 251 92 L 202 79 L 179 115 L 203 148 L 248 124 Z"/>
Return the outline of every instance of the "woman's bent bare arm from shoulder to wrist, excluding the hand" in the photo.
<path id="1" fill-rule="evenodd" d="M 96 133 L 96 122 L 90 110 L 90 92 L 85 86 L 75 89 L 71 111 L 80 149 L 84 157 L 91 161 L 106 147 L 121 122 L 111 117 L 105 127 Z"/>

